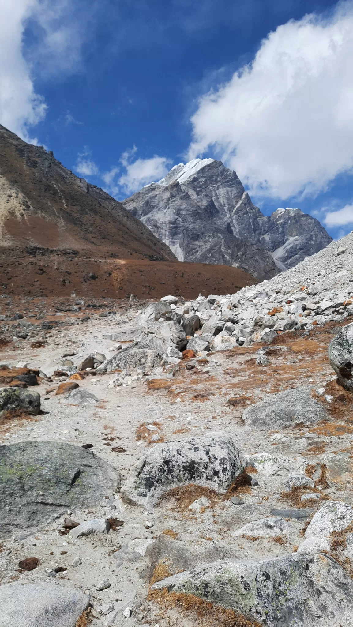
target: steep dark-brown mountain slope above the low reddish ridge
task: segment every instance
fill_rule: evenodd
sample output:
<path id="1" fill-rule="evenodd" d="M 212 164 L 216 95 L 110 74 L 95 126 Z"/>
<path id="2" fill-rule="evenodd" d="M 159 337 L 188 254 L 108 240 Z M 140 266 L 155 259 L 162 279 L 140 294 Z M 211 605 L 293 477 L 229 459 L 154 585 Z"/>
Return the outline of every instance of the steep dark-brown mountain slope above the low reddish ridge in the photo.
<path id="1" fill-rule="evenodd" d="M 176 261 L 124 206 L 0 125 L 0 247 Z"/>

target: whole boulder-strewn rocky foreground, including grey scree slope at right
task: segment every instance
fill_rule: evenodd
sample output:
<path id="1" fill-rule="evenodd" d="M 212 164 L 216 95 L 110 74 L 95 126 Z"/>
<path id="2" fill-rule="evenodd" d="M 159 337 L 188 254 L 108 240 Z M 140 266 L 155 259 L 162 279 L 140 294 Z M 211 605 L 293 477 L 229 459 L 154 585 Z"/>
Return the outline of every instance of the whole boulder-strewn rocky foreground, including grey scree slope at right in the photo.
<path id="1" fill-rule="evenodd" d="M 1 627 L 353 624 L 350 246 L 223 299 L 3 299 Z"/>

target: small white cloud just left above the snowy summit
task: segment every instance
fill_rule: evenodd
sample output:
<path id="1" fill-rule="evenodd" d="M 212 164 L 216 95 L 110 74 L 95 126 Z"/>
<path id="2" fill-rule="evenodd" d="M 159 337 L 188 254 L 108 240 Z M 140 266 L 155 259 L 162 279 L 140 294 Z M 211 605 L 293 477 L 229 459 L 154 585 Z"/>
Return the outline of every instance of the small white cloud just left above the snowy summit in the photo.
<path id="1" fill-rule="evenodd" d="M 133 194 L 134 192 L 149 184 L 152 181 L 159 181 L 167 172 L 169 172 L 171 166 L 171 160 L 166 157 L 151 157 L 150 159 L 136 159 L 136 161 L 130 163 L 129 159 L 136 152 L 136 147 L 132 151 L 126 151 L 122 155 L 120 161 L 126 169 L 125 174 L 122 174 L 119 179 L 119 186 L 126 194 Z"/>

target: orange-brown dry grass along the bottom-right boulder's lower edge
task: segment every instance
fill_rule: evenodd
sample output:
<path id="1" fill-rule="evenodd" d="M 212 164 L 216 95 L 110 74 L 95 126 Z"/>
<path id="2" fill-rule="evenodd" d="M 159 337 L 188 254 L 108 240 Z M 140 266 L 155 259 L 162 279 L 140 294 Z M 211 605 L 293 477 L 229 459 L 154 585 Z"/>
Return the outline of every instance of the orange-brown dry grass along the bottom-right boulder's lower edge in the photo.
<path id="1" fill-rule="evenodd" d="M 169 593 L 166 588 L 150 592 L 149 601 L 158 603 L 164 611 L 179 609 L 182 614 L 198 621 L 199 625 L 217 625 L 218 627 L 261 627 L 256 621 L 249 621 L 245 616 L 233 611 L 215 606 L 209 601 L 199 599 L 194 594 Z"/>

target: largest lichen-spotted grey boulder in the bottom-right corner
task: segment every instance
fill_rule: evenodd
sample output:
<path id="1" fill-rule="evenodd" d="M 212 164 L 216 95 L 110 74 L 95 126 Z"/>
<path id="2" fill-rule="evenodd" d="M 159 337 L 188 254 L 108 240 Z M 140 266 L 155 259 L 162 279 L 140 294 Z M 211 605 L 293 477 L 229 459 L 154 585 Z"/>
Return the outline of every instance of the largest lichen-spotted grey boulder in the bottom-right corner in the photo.
<path id="1" fill-rule="evenodd" d="M 330 556 L 213 562 L 152 590 L 193 594 L 267 627 L 351 627 L 353 582 Z"/>

